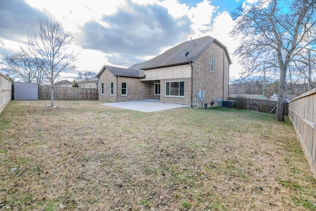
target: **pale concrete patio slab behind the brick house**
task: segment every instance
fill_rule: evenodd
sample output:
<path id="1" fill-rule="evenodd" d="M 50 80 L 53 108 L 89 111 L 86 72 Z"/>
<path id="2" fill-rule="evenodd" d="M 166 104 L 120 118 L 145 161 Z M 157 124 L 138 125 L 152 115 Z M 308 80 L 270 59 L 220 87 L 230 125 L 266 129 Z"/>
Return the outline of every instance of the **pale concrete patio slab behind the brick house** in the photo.
<path id="1" fill-rule="evenodd" d="M 188 105 L 180 105 L 173 103 L 161 103 L 157 100 L 136 100 L 136 101 L 125 101 L 117 103 L 102 103 L 101 105 L 112 106 L 116 108 L 122 108 L 140 112 L 156 112 L 167 109 L 183 108 Z"/>

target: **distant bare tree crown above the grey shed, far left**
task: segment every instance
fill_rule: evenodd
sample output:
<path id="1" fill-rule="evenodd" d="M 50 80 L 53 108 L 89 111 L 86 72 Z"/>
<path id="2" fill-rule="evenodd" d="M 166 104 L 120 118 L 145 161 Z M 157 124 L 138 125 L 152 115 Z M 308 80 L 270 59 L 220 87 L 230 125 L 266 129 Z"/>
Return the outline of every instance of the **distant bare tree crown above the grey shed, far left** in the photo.
<path id="1" fill-rule="evenodd" d="M 44 75 L 35 58 L 22 53 L 15 53 L 11 56 L 4 56 L 3 61 L 4 72 L 9 76 L 25 83 L 42 83 Z"/>

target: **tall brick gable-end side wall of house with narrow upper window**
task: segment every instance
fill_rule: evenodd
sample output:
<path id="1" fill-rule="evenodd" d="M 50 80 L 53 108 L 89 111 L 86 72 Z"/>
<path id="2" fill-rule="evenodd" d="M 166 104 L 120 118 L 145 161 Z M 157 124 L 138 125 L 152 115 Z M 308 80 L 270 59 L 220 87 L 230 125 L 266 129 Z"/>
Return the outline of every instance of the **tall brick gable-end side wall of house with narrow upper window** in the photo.
<path id="1" fill-rule="evenodd" d="M 214 72 L 211 72 L 211 58 L 214 59 Z M 228 97 L 229 62 L 225 51 L 216 43 L 210 44 L 193 63 L 193 105 L 196 106 L 198 90 L 205 91 L 204 103 Z M 223 85 L 224 79 L 224 85 Z M 224 95 L 223 95 L 224 88 Z M 215 100 L 213 100 L 215 97 Z M 203 107 L 199 103 L 199 107 Z"/>

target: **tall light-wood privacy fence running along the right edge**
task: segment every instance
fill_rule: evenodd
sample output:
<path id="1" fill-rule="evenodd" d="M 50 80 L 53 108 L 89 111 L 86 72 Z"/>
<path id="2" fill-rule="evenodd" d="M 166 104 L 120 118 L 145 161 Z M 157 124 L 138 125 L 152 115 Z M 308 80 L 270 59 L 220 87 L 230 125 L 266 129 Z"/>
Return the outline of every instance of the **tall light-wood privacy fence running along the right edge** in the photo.
<path id="1" fill-rule="evenodd" d="M 289 103 L 288 116 L 316 178 L 316 88 Z"/>

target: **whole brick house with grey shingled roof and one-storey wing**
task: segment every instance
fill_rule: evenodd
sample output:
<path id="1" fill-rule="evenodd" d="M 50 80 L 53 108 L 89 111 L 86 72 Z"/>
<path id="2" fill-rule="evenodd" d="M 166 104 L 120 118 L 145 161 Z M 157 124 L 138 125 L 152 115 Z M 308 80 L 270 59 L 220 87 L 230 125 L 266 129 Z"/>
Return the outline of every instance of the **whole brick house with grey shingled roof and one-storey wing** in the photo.
<path id="1" fill-rule="evenodd" d="M 99 100 L 156 99 L 196 107 L 199 90 L 204 91 L 204 103 L 225 100 L 230 64 L 226 46 L 214 38 L 183 42 L 130 68 L 103 66 L 96 76 Z"/>

